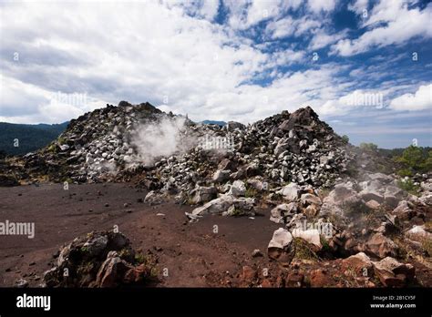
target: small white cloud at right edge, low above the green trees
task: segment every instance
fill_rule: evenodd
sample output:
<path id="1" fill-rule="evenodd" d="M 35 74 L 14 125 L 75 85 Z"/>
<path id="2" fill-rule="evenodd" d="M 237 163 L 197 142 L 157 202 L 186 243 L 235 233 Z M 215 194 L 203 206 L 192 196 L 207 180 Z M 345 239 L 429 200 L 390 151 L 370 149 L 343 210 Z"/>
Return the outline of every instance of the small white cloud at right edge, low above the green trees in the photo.
<path id="1" fill-rule="evenodd" d="M 415 94 L 405 94 L 394 98 L 390 107 L 395 110 L 432 109 L 432 84 L 418 87 Z"/>

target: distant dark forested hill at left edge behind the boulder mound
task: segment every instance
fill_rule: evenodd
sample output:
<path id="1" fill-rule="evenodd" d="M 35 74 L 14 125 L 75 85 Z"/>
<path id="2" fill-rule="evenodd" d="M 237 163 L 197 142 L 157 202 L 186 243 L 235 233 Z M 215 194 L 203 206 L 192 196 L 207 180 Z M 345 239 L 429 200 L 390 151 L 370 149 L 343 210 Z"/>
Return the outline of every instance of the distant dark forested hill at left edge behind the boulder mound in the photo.
<path id="1" fill-rule="evenodd" d="M 0 122 L 0 152 L 23 155 L 43 148 L 56 139 L 67 128 L 67 124 L 20 125 Z M 18 140 L 18 147 L 14 146 L 15 139 Z"/>

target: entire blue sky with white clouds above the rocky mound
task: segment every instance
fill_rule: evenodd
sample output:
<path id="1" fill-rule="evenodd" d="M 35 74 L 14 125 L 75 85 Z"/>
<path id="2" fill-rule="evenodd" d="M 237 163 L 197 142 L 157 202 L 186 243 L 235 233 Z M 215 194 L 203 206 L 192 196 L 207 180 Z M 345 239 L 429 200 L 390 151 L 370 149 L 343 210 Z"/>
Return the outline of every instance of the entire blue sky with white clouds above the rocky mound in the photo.
<path id="1" fill-rule="evenodd" d="M 0 2 L 0 121 L 149 101 L 253 122 L 311 106 L 354 144 L 432 146 L 432 4 Z"/>

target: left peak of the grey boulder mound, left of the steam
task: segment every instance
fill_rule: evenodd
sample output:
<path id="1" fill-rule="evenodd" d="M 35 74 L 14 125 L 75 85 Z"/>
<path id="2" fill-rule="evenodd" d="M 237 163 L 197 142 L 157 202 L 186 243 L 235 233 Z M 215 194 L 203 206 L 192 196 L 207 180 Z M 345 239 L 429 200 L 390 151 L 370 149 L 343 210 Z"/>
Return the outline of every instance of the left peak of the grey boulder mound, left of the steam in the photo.
<path id="1" fill-rule="evenodd" d="M 48 147 L 25 158 L 26 169 L 53 180 L 98 181 L 116 174 L 132 161 L 131 133 L 137 125 L 172 117 L 149 103 L 88 112 L 71 120 L 67 130 Z"/>

